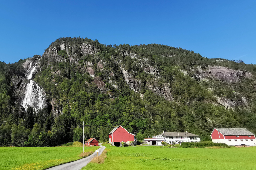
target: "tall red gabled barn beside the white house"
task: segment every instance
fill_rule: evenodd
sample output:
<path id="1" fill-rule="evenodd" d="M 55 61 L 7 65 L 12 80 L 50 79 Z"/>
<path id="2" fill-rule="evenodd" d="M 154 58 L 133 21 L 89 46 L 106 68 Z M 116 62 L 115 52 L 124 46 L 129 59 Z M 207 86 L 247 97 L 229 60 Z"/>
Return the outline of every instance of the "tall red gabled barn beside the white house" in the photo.
<path id="1" fill-rule="evenodd" d="M 109 143 L 111 143 L 113 146 L 120 146 L 120 142 L 126 142 L 128 141 L 135 141 L 135 135 L 129 133 L 125 128 L 123 128 L 121 125 L 118 127 L 115 127 L 109 134 Z"/>

